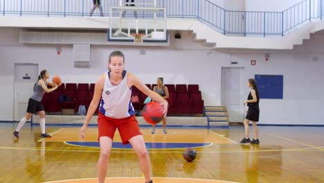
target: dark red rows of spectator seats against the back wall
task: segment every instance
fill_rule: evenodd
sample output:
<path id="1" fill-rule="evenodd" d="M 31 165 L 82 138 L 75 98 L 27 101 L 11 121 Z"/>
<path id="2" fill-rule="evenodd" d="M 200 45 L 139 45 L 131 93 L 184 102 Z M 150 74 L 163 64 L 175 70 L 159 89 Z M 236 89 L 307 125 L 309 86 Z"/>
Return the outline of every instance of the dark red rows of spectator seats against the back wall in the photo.
<path id="1" fill-rule="evenodd" d="M 154 85 L 146 84 L 152 89 Z M 191 116 L 204 114 L 204 100 L 202 100 L 199 85 L 165 85 L 168 87 L 170 108 L 168 116 Z M 91 83 L 62 83 L 54 92 L 45 94 L 42 100 L 46 114 L 77 114 L 79 106 L 84 105 L 88 110 L 93 98 L 95 84 Z M 147 96 L 132 87 L 132 96 L 138 96 L 138 102 L 132 103 L 135 110 L 141 111 Z M 98 106 L 99 107 L 99 106 Z M 98 110 L 96 110 L 98 111 Z"/>

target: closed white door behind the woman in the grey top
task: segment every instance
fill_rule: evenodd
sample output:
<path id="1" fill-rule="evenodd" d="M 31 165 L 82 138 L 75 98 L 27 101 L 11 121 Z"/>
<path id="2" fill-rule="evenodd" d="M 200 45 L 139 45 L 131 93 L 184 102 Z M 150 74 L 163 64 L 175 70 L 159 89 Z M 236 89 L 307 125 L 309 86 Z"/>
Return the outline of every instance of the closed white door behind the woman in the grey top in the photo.
<path id="1" fill-rule="evenodd" d="M 38 75 L 38 64 L 15 64 L 15 121 L 19 121 L 25 115 L 28 99 L 33 94 Z"/>

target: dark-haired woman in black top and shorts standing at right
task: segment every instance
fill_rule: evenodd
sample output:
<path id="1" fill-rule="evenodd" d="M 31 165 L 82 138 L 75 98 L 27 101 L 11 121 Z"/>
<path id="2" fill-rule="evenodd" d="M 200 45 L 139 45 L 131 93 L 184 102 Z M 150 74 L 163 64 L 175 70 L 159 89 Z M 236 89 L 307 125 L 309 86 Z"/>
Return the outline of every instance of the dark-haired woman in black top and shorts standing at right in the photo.
<path id="1" fill-rule="evenodd" d="M 240 143 L 260 143 L 259 141 L 259 131 L 257 122 L 259 121 L 259 92 L 256 86 L 256 82 L 254 79 L 249 79 L 248 87 L 251 89 L 251 92 L 248 96 L 248 100 L 244 101 L 244 105 L 247 103 L 249 106 L 249 110 L 247 111 L 246 117 L 244 119 L 244 129 L 245 129 L 245 137 L 240 141 Z M 254 139 L 251 141 L 249 138 L 249 122 L 252 121 L 253 130 L 254 130 Z"/>

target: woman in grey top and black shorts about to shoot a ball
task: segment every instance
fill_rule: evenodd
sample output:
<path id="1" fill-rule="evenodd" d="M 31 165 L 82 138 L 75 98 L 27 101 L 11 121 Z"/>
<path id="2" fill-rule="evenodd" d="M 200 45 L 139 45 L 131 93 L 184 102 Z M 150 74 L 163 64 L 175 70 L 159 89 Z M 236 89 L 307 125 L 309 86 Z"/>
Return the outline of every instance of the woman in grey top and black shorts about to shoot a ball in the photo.
<path id="1" fill-rule="evenodd" d="M 38 76 L 38 81 L 34 85 L 34 94 L 30 96 L 28 101 L 27 112 L 25 116 L 20 120 L 16 131 L 13 133 L 15 137 L 19 138 L 20 129 L 23 127 L 26 121 L 30 119 L 32 114 L 35 113 L 39 115 L 39 125 L 42 132 L 41 137 L 42 138 L 51 137 L 49 134 L 46 134 L 45 132 L 45 112 L 41 101 L 45 92 L 46 93 L 53 92 L 55 89 L 57 89 L 58 85 L 55 85 L 55 83 L 52 82 L 47 82 L 46 80 L 48 78 L 49 78 L 49 74 L 46 70 L 40 72 L 40 75 Z M 47 85 L 51 85 L 53 88 L 48 89 Z"/>

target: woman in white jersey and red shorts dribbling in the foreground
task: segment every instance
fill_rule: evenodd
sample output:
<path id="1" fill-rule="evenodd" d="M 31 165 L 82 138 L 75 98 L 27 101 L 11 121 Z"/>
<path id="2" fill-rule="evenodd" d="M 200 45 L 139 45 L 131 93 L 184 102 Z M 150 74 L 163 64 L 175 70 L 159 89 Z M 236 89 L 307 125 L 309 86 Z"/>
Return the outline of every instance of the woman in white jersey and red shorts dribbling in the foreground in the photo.
<path id="1" fill-rule="evenodd" d="M 114 51 L 109 55 L 109 71 L 104 73 L 96 82 L 93 99 L 80 130 L 84 138 L 88 123 L 100 103 L 98 112 L 98 133 L 100 142 L 100 157 L 98 160 L 99 183 L 105 182 L 108 160 L 116 128 L 118 128 L 123 144 L 131 143 L 138 155 L 141 171 L 145 181 L 152 183 L 150 177 L 150 158 L 145 148 L 144 139 L 135 118 L 134 107 L 131 103 L 132 86 L 150 96 L 164 107 L 167 114 L 168 102 L 159 94 L 150 90 L 134 74 L 124 70 L 125 57 L 121 51 Z M 100 98 L 102 98 L 100 100 Z"/>

